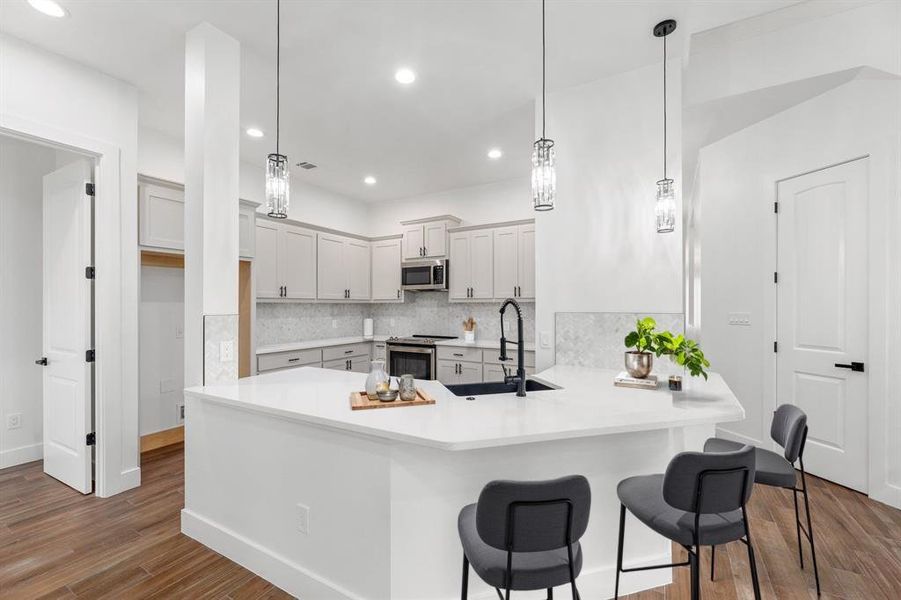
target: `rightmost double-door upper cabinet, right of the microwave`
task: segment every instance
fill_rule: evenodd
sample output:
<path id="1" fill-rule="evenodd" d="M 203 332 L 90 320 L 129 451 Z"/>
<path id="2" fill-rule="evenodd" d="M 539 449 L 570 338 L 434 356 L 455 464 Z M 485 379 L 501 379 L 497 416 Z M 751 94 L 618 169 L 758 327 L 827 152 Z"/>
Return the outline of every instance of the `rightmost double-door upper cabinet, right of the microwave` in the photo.
<path id="1" fill-rule="evenodd" d="M 535 224 L 494 230 L 494 294 L 498 298 L 535 298 Z"/>

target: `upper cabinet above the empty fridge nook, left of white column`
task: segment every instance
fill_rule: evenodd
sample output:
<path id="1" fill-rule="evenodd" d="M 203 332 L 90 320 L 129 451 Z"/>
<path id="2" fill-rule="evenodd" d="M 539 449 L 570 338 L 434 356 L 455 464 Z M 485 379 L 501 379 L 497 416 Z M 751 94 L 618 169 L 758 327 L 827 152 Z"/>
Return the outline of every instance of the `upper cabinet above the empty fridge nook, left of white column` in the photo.
<path id="1" fill-rule="evenodd" d="M 185 193 L 142 183 L 138 194 L 138 243 L 141 246 L 185 249 Z"/>

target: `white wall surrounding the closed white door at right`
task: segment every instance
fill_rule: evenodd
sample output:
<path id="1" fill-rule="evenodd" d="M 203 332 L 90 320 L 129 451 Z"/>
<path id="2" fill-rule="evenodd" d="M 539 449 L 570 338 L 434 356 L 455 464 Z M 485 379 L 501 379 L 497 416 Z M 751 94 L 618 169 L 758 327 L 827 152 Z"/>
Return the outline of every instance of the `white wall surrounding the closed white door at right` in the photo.
<path id="1" fill-rule="evenodd" d="M 891 307 L 887 320 L 871 327 L 871 343 L 881 350 L 870 357 L 868 369 L 871 393 L 877 395 L 875 405 L 871 395 L 871 419 L 879 424 L 870 435 L 882 450 L 871 452 L 878 465 L 871 463 L 870 494 L 894 498 L 896 505 L 901 502 L 901 392 L 894 373 L 876 365 L 884 357 L 893 370 L 901 360 L 899 152 L 901 83 L 857 80 L 703 148 L 700 160 L 703 345 L 747 413 L 724 431 L 766 445 L 776 401 L 776 181 L 870 155 L 870 204 L 878 211 L 870 236 L 886 240 L 885 255 L 871 255 L 870 261 L 885 268 L 876 270 L 885 282 L 877 306 Z M 751 325 L 728 325 L 730 312 L 750 313 Z M 884 336 L 881 344 L 872 339 L 874 331 Z"/>

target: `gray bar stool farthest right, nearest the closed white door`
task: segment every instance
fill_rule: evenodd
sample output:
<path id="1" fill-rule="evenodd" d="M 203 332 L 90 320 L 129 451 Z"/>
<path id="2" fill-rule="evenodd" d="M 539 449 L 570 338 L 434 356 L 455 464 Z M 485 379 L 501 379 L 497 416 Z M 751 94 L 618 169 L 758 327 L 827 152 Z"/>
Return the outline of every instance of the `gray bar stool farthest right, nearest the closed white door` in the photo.
<path id="1" fill-rule="evenodd" d="M 807 496 L 807 477 L 804 473 L 804 445 L 807 442 L 807 415 L 803 410 L 793 404 L 783 404 L 773 413 L 773 423 L 770 426 L 770 437 L 779 444 L 782 456 L 765 450 L 755 448 L 757 470 L 754 475 L 756 483 L 771 485 L 792 491 L 795 499 L 795 528 L 798 534 L 798 560 L 801 568 L 804 568 L 804 553 L 801 551 L 801 532 L 810 542 L 810 558 L 813 561 L 813 577 L 817 584 L 817 596 L 820 595 L 820 572 L 817 569 L 817 552 L 813 545 L 813 525 L 810 522 L 810 500 Z M 704 444 L 707 452 L 729 452 L 740 448 L 742 444 L 729 440 L 711 438 Z M 801 487 L 798 487 L 795 474 L 795 462 L 801 466 Z M 807 529 L 801 525 L 801 516 L 798 512 L 798 492 L 804 497 L 804 512 L 807 514 Z M 710 548 L 710 579 L 713 579 L 714 558 L 716 546 Z"/>

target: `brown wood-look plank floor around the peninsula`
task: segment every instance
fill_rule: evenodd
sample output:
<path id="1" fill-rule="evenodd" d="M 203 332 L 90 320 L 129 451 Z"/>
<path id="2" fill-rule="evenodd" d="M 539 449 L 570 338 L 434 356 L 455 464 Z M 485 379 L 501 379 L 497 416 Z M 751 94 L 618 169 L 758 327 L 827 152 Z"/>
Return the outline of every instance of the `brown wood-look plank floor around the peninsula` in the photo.
<path id="1" fill-rule="evenodd" d="M 146 454 L 144 484 L 109 499 L 70 490 L 40 463 L 0 471 L 0 597 L 290 598 L 179 532 L 182 459 L 178 446 Z M 901 511 L 815 478 L 811 503 L 822 598 L 901 598 Z M 750 514 L 763 597 L 816 598 L 812 571 L 798 568 L 791 496 L 758 486 Z M 709 550 L 702 558 L 705 600 L 753 598 L 742 544 L 717 551 L 714 582 Z M 675 576 L 673 585 L 628 598 L 689 598 L 687 569 Z"/>

